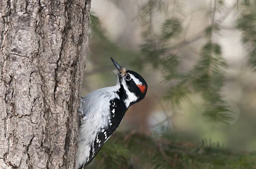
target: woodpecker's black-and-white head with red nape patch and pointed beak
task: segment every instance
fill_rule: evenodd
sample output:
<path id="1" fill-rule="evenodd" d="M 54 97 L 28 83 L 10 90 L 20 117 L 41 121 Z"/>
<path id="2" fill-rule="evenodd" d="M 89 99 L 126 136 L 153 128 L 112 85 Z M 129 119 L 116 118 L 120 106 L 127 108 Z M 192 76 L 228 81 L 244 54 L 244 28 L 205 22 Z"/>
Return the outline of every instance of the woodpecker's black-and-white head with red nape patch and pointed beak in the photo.
<path id="1" fill-rule="evenodd" d="M 116 67 L 117 83 L 120 85 L 119 95 L 123 97 L 120 99 L 123 99 L 126 107 L 144 99 L 148 85 L 143 77 L 132 70 L 126 70 L 112 57 L 111 61 Z"/>

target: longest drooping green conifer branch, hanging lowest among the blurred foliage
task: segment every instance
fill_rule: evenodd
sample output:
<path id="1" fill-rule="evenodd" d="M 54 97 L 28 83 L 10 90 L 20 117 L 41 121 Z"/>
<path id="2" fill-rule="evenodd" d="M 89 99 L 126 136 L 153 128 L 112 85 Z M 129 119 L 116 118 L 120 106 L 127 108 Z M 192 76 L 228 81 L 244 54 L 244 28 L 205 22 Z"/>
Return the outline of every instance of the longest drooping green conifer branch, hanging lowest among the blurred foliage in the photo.
<path id="1" fill-rule="evenodd" d="M 221 87 L 224 85 L 224 69 L 227 68 L 225 60 L 221 57 L 221 46 L 212 42 L 212 34 L 219 31 L 215 24 L 215 12 L 217 1 L 214 0 L 213 10 L 211 12 L 212 25 L 205 29 L 208 42 L 201 50 L 201 59 L 198 60 L 194 69 L 187 75 L 177 76 L 177 72 L 169 69 L 166 62 L 163 68 L 166 73 L 166 80 L 178 79 L 180 82 L 171 87 L 165 98 L 169 99 L 172 104 L 180 104 L 180 101 L 187 98 L 191 93 L 189 86 L 192 86 L 196 93 L 201 93 L 206 101 L 206 110 L 202 113 L 207 121 L 221 122 L 228 124 L 233 118 L 230 116 L 228 106 L 221 100 Z M 171 65 L 172 66 L 172 65 Z M 174 69 L 177 68 L 174 67 Z M 175 74 L 176 73 L 176 74 Z"/>

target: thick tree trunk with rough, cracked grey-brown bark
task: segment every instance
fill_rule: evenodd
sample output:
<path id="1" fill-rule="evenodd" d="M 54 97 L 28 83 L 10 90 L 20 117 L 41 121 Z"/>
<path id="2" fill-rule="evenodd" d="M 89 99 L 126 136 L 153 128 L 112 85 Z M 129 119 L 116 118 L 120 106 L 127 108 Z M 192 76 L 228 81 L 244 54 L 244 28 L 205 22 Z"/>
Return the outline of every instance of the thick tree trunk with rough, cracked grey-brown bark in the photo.
<path id="1" fill-rule="evenodd" d="M 0 169 L 72 169 L 90 0 L 0 0 Z"/>

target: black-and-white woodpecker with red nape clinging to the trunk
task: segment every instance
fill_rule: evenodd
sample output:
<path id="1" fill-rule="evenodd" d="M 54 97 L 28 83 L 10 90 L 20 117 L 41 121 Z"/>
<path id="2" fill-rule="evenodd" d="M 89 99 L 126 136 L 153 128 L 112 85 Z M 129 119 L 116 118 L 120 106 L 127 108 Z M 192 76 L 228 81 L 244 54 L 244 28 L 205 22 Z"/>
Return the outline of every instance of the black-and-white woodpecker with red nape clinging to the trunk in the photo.
<path id="1" fill-rule="evenodd" d="M 80 98 L 76 169 L 83 169 L 113 135 L 128 108 L 144 99 L 148 85 L 138 73 L 126 70 L 112 57 L 117 84 Z"/>

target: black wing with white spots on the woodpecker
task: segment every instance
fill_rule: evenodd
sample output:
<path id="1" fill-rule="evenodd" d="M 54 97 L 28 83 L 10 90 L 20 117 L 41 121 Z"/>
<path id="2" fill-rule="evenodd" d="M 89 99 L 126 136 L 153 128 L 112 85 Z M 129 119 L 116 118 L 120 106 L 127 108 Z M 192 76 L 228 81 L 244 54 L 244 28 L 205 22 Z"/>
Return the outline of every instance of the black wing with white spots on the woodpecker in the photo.
<path id="1" fill-rule="evenodd" d="M 118 107 L 118 109 L 117 109 Z M 125 104 L 122 103 L 119 99 L 113 99 L 110 101 L 110 112 L 109 125 L 108 127 L 102 128 L 96 135 L 96 139 L 90 148 L 90 155 L 87 158 L 86 163 L 81 166 L 79 169 L 83 169 L 84 166 L 89 164 L 93 158 L 98 154 L 99 150 L 102 148 L 103 144 L 111 137 L 111 135 L 119 127 L 120 123 L 126 112 Z"/>

